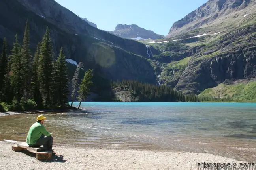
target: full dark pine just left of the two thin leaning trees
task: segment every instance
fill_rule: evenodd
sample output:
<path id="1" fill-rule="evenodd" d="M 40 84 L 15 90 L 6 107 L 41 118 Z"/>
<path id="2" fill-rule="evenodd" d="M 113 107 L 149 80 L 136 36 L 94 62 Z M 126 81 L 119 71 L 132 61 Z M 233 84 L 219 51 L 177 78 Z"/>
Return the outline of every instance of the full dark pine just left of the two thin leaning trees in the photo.
<path id="1" fill-rule="evenodd" d="M 53 89 L 55 105 L 65 107 L 68 103 L 68 67 L 62 48 L 53 69 Z"/>

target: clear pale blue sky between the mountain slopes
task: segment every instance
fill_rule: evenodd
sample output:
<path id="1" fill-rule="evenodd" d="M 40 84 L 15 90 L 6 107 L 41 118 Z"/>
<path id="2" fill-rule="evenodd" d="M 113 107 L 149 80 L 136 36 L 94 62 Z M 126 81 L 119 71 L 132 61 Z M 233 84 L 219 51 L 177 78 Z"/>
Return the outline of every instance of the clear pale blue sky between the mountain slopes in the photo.
<path id="1" fill-rule="evenodd" d="M 137 24 L 167 35 L 172 24 L 207 0 L 55 0 L 106 31 L 117 24 Z"/>

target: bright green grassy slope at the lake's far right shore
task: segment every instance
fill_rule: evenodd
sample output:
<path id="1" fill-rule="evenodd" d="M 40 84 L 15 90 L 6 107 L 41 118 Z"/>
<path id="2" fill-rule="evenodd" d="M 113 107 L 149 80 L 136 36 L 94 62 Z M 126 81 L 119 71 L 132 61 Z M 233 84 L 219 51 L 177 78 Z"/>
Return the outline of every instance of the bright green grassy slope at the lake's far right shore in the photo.
<path id="1" fill-rule="evenodd" d="M 256 101 L 256 81 L 249 83 L 238 83 L 233 85 L 219 84 L 217 87 L 205 89 L 198 96 L 226 98 L 234 100 Z"/>

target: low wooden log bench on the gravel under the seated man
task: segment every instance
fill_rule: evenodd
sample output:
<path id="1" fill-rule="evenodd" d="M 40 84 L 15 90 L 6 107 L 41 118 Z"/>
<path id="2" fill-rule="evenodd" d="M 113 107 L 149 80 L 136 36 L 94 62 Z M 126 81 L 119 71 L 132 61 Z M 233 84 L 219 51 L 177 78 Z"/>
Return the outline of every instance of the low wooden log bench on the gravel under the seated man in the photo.
<path id="1" fill-rule="evenodd" d="M 45 151 L 43 147 L 30 147 L 27 143 L 20 143 L 15 144 L 12 146 L 12 150 L 15 152 L 21 152 L 23 150 L 28 150 L 29 152 L 36 153 L 36 159 L 43 160 L 43 159 L 51 159 L 53 152 L 52 151 Z"/>

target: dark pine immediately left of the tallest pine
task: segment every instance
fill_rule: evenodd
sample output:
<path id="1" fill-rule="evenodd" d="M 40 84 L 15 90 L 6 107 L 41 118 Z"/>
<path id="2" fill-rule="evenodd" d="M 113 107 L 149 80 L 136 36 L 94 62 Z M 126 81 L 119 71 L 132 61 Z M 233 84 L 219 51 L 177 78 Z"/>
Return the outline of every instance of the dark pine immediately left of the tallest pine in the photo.
<path id="1" fill-rule="evenodd" d="M 10 81 L 13 95 L 18 102 L 21 101 L 23 95 L 24 81 L 23 77 L 23 65 L 21 62 L 21 47 L 18 42 L 18 34 L 15 35 L 15 42 L 10 56 Z"/>

